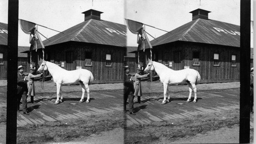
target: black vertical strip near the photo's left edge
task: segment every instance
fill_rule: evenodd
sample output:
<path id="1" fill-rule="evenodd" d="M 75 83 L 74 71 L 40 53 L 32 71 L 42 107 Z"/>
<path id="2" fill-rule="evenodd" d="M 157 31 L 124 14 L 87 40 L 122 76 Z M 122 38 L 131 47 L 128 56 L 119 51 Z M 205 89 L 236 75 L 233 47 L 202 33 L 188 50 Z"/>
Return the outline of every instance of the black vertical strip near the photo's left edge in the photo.
<path id="1" fill-rule="evenodd" d="M 6 143 L 17 143 L 18 0 L 8 1 L 7 44 Z"/>

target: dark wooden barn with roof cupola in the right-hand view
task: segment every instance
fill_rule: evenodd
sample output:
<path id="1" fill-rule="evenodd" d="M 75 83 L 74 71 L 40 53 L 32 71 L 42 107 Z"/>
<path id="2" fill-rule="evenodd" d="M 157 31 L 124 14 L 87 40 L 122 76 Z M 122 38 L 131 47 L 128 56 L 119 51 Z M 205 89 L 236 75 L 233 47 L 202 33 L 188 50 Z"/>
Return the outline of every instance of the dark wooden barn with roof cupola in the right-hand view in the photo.
<path id="1" fill-rule="evenodd" d="M 240 26 L 209 19 L 206 10 L 190 13 L 192 21 L 151 41 L 152 59 L 174 70 L 196 69 L 201 83 L 240 81 Z M 139 54 L 147 64 L 147 43 Z"/>

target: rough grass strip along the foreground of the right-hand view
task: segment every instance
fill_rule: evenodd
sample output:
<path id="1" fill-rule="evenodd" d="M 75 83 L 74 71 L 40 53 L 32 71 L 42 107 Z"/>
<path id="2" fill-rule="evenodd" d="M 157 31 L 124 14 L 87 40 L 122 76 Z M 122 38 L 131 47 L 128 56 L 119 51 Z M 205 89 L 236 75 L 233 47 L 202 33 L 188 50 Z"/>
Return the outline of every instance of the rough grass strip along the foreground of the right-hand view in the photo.
<path id="1" fill-rule="evenodd" d="M 145 137 L 150 136 L 153 139 L 146 140 L 146 143 L 159 143 L 161 139 L 172 142 L 182 137 L 204 134 L 224 127 L 232 128 L 234 125 L 239 125 L 239 110 L 155 122 L 144 127 L 133 125 L 125 128 L 124 141 L 125 143 L 144 143 Z"/>

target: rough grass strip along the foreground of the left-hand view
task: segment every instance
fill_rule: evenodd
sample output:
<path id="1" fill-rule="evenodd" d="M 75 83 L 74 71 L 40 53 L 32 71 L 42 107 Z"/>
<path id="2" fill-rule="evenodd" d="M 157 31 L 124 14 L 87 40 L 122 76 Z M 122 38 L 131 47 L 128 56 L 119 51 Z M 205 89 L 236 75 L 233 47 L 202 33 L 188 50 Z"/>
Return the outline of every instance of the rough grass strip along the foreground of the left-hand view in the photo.
<path id="1" fill-rule="evenodd" d="M 92 115 L 77 119 L 27 125 L 17 128 L 17 143 L 68 142 L 91 134 L 123 128 L 123 112 Z"/>

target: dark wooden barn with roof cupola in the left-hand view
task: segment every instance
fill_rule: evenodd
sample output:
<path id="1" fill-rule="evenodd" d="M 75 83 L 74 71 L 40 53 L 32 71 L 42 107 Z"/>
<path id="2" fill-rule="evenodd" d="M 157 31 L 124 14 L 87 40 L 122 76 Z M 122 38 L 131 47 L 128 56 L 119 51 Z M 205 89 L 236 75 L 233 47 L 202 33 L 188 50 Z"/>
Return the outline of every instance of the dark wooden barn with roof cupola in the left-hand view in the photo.
<path id="1" fill-rule="evenodd" d="M 88 69 L 94 76 L 93 83 L 123 82 L 126 26 L 101 20 L 101 13 L 85 11 L 83 22 L 50 37 L 50 41 L 44 40 L 44 59 L 67 70 Z M 32 65 L 40 65 L 42 49 L 31 55 Z"/>

